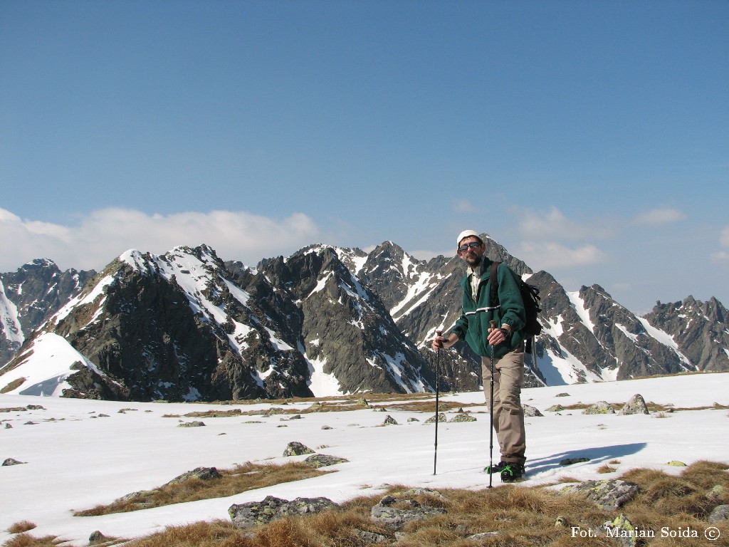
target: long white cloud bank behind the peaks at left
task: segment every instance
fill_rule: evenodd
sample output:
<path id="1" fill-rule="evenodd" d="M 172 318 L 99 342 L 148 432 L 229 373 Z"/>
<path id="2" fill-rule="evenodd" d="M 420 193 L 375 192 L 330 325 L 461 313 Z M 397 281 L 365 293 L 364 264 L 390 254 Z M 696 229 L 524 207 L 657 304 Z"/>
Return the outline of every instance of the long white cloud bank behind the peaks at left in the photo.
<path id="1" fill-rule="evenodd" d="M 223 260 L 255 264 L 289 255 L 316 242 L 321 232 L 305 214 L 276 220 L 242 211 L 152 214 L 108 208 L 66 226 L 23 220 L 0 209 L 0 271 L 14 271 L 34 258 L 62 269 L 100 269 L 127 249 L 160 254 L 178 245 L 208 244 Z"/>

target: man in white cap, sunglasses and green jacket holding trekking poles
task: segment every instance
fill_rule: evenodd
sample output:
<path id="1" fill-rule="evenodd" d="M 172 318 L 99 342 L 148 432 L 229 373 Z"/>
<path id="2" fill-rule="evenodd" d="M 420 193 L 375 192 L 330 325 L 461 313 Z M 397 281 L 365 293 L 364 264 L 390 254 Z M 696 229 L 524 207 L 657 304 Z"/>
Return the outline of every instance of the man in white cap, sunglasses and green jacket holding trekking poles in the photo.
<path id="1" fill-rule="evenodd" d="M 481 357 L 481 372 L 486 400 L 491 403 L 491 359 L 494 359 L 494 403 L 490 408 L 496 438 L 501 449 L 501 462 L 487 466 L 486 473 L 501 473 L 502 482 L 524 478 L 526 433 L 521 408 L 521 387 L 524 380 L 524 303 L 518 278 L 506 264 L 496 269 L 498 309 L 491 302 L 491 263 L 485 256 L 486 244 L 473 230 L 464 230 L 456 239 L 458 255 L 468 264 L 461 279 L 463 313 L 448 337 L 437 336 L 432 342 L 435 351 L 448 348 L 459 340 L 467 341 Z M 486 309 L 486 310 L 480 310 Z M 479 311 L 477 311 L 479 310 Z M 491 328 L 490 322 L 496 323 Z M 492 353 L 493 352 L 493 353 Z"/>

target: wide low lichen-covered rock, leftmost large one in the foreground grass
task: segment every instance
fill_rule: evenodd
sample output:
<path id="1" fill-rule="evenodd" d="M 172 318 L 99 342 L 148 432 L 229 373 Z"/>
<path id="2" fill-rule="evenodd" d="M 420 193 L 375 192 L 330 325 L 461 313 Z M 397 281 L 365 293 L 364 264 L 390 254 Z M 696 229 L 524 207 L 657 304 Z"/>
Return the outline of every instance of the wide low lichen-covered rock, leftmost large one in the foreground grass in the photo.
<path id="1" fill-rule="evenodd" d="M 297 497 L 295 500 L 282 500 L 280 497 L 266 496 L 260 502 L 233 504 L 228 515 L 235 527 L 246 529 L 266 524 L 283 516 L 300 516 L 338 509 L 339 505 L 328 497 Z"/>

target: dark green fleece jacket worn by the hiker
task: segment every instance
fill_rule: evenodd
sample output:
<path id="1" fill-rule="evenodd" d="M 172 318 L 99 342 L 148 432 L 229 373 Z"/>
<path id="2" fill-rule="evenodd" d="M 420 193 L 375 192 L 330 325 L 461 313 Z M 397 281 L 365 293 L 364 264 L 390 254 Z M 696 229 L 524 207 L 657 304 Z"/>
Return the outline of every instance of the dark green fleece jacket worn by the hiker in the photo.
<path id="1" fill-rule="evenodd" d="M 508 352 L 523 346 L 524 338 L 521 330 L 525 324 L 524 303 L 521 299 L 517 275 L 506 264 L 500 264 L 496 268 L 496 279 L 499 281 L 499 304 L 500 309 L 492 311 L 479 311 L 476 314 L 466 315 L 469 311 L 475 311 L 477 308 L 486 308 L 493 306 L 491 304 L 491 263 L 487 257 L 483 257 L 483 265 L 475 268 L 474 275 L 480 276 L 478 284 L 478 292 L 476 301 L 473 301 L 471 295 L 471 287 L 469 284 L 469 276 L 461 279 L 461 289 L 463 289 L 463 314 L 456 321 L 453 327 L 453 333 L 459 337 L 459 340 L 465 340 L 471 346 L 474 352 L 482 357 L 491 356 L 491 345 L 486 341 L 488 336 L 489 321 L 496 321 L 496 327 L 501 327 L 506 323 L 511 327 L 512 333 L 510 338 L 501 344 L 494 346 L 494 357 L 503 357 Z"/>

